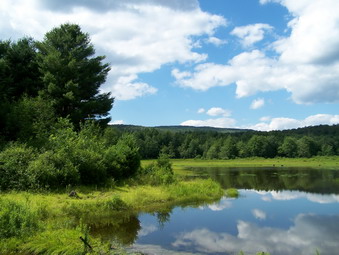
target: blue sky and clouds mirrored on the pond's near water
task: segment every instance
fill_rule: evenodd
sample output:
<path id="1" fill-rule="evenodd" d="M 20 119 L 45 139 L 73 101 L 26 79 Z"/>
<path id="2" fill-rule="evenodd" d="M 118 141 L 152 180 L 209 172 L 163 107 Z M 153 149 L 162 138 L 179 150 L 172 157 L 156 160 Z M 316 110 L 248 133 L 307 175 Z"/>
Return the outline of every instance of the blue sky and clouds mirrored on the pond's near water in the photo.
<path id="1" fill-rule="evenodd" d="M 156 217 L 142 215 L 136 247 L 148 254 L 338 254 L 338 195 L 240 193 L 239 199 L 175 208 L 163 229 L 155 227 Z"/>

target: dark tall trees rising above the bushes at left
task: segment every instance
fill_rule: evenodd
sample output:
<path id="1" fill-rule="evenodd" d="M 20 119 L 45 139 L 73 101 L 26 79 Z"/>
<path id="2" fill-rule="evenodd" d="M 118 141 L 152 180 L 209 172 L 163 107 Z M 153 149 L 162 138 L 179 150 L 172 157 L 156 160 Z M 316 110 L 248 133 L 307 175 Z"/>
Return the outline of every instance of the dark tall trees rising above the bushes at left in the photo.
<path id="1" fill-rule="evenodd" d="M 100 92 L 110 70 L 104 59 L 75 24 L 52 29 L 42 41 L 0 40 L 2 139 L 26 142 L 48 134 L 59 117 L 77 129 L 89 119 L 107 124 L 114 98 Z"/>

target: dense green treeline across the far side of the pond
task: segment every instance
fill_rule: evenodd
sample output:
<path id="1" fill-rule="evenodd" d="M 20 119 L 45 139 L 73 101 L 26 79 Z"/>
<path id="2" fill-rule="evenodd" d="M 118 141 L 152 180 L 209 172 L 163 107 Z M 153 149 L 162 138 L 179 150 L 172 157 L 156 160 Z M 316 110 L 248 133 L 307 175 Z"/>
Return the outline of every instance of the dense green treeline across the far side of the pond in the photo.
<path id="1" fill-rule="evenodd" d="M 312 157 L 339 155 L 339 125 L 286 131 L 220 133 L 171 132 L 157 128 L 112 127 L 117 135 L 132 133 L 143 159 L 167 154 L 171 158 L 234 159 L 244 157 Z"/>

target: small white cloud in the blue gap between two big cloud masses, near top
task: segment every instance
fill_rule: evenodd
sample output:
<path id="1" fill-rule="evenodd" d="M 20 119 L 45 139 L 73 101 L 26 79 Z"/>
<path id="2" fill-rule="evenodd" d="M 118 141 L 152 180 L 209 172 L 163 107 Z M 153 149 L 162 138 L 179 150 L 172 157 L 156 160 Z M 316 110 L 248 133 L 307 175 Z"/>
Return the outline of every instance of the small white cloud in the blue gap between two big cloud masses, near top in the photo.
<path id="1" fill-rule="evenodd" d="M 264 39 L 265 32 L 272 29 L 273 27 L 268 24 L 258 23 L 236 27 L 232 30 L 231 35 L 239 37 L 241 44 L 244 47 L 249 47 Z"/>

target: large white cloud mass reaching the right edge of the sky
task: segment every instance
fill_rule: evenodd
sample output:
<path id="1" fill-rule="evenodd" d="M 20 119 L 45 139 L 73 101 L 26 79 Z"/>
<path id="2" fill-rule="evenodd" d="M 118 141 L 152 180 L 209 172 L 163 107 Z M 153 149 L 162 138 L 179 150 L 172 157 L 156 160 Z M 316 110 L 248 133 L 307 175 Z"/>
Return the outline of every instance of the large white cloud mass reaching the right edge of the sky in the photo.
<path id="1" fill-rule="evenodd" d="M 339 102 L 339 1 L 261 1 L 268 2 L 280 3 L 293 17 L 290 34 L 271 45 L 274 58 L 258 49 L 243 52 L 224 65 L 199 64 L 177 83 L 197 90 L 235 83 L 237 97 L 283 89 L 296 103 Z M 265 29 L 257 26 L 257 31 Z M 261 38 L 233 33 L 248 38 L 248 44 Z"/>

